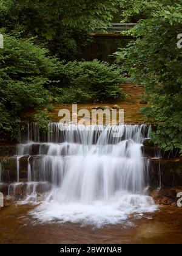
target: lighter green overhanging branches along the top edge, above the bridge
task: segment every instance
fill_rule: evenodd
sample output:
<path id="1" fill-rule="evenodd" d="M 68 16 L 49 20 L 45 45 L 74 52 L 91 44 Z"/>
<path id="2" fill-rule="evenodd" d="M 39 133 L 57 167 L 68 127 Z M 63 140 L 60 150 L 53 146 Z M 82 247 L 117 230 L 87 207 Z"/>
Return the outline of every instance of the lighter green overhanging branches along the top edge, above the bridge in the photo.
<path id="1" fill-rule="evenodd" d="M 81 30 L 106 25 L 112 20 L 112 13 L 116 12 L 116 4 L 118 0 L 13 1 L 14 6 L 19 5 L 23 10 L 24 17 L 29 18 L 30 26 L 47 38 L 56 34 L 58 24 Z"/>

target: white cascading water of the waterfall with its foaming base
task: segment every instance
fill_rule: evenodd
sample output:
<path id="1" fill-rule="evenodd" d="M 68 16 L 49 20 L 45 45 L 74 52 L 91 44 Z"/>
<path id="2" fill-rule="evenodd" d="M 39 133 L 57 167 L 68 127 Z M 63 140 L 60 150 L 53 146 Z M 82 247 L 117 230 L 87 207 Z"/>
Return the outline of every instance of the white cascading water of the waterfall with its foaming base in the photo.
<path id="1" fill-rule="evenodd" d="M 145 194 L 141 153 L 145 125 L 51 123 L 48 143 L 39 143 L 38 126 L 32 127 L 28 136 L 35 142 L 19 145 L 18 155 L 31 155 L 24 202 L 37 201 L 39 193 L 49 190 L 31 212 L 40 221 L 102 226 L 124 221 L 131 213 L 155 210 L 152 198 Z M 32 153 L 35 146 L 38 150 Z"/>

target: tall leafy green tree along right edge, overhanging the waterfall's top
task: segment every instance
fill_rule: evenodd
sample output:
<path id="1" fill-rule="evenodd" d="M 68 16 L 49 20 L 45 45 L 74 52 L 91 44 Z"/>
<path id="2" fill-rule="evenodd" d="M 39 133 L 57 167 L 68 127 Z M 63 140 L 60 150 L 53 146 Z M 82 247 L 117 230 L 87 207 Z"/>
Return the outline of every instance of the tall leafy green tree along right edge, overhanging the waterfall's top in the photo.
<path id="1" fill-rule="evenodd" d="M 150 104 L 141 112 L 157 126 L 153 141 L 166 151 L 180 148 L 182 152 L 182 51 L 177 48 L 182 4 L 167 0 L 133 3 L 133 9 L 123 15 L 128 20 L 143 12 L 146 20 L 130 32 L 136 40 L 116 55 L 132 79 L 146 89 Z"/>

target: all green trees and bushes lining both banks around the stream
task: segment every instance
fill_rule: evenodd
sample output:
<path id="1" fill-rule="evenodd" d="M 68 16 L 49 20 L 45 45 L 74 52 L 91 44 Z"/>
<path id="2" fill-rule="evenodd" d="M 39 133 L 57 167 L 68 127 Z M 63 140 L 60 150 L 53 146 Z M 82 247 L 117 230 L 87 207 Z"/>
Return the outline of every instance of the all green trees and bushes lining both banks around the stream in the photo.
<path id="1" fill-rule="evenodd" d="M 121 74 L 144 85 L 149 105 L 141 113 L 155 126 L 153 141 L 182 152 L 181 0 L 1 0 L 0 130 L 19 136 L 24 111 L 52 109 L 50 102 L 108 102 L 123 99 Z M 89 31 L 112 19 L 138 22 L 134 37 L 116 52 L 118 65 L 81 60 Z M 119 21 L 119 20 L 118 20 Z M 49 113 L 38 113 L 42 129 Z M 41 121 L 42 120 L 42 121 Z"/>

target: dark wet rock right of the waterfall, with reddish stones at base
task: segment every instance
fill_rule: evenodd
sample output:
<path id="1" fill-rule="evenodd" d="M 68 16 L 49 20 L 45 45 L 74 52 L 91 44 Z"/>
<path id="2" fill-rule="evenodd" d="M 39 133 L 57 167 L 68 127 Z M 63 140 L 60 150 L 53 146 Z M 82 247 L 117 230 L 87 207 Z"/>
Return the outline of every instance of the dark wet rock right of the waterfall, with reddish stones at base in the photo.
<path id="1" fill-rule="evenodd" d="M 177 206 L 182 192 L 182 160 L 148 160 L 148 193 L 158 205 Z"/>

